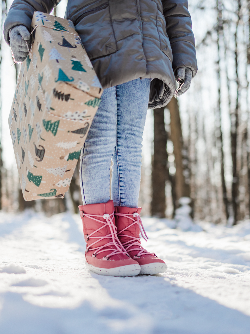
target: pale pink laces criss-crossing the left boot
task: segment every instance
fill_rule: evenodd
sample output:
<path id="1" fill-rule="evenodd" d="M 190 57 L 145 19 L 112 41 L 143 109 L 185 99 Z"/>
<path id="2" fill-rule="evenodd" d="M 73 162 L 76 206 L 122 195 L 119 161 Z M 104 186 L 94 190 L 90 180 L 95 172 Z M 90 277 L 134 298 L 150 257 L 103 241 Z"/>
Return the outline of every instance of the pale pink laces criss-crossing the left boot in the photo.
<path id="1" fill-rule="evenodd" d="M 91 255 L 92 257 L 96 257 L 97 254 L 100 254 L 102 252 L 107 252 L 107 251 L 111 251 L 111 253 L 108 256 L 105 256 L 102 258 L 102 260 L 108 260 L 111 256 L 113 255 L 118 255 L 118 254 L 123 254 L 123 255 L 128 255 L 128 253 L 125 251 L 124 247 L 122 246 L 120 240 L 118 239 L 117 236 L 117 228 L 115 226 L 115 224 L 113 223 L 113 219 L 114 219 L 114 214 L 115 211 L 109 215 L 108 213 L 105 213 L 104 215 L 97 215 L 97 214 L 88 214 L 88 213 L 84 213 L 83 212 L 83 216 L 86 216 L 87 218 L 93 219 L 95 221 L 98 221 L 99 223 L 103 224 L 103 226 L 99 227 L 98 229 L 96 229 L 94 232 L 92 232 L 91 234 L 88 235 L 87 240 L 89 239 L 97 239 L 96 241 L 92 242 L 85 251 L 85 254 L 88 253 L 90 247 L 91 247 L 91 251 L 94 251 L 94 253 Z M 96 219 L 94 217 L 103 217 L 105 221 Z M 94 234 L 98 231 L 100 231 L 102 228 L 108 226 L 110 228 L 110 234 L 107 234 L 105 236 L 94 236 Z M 95 245 L 96 243 L 104 240 L 104 239 L 109 239 L 110 237 L 112 237 L 112 241 L 107 242 L 106 244 L 104 244 L 103 246 L 99 246 L 99 247 L 95 247 L 93 248 L 93 245 Z M 116 249 L 114 248 L 107 248 L 109 246 L 115 246 Z M 103 249 L 105 248 L 105 249 Z"/>

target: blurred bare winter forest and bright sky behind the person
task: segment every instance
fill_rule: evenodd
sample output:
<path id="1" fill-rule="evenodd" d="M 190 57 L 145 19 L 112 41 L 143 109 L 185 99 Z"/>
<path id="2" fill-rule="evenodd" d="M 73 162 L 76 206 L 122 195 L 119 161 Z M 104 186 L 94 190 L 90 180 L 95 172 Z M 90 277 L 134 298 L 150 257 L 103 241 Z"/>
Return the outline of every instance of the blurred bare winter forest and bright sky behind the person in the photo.
<path id="1" fill-rule="evenodd" d="M 11 3 L 2 1 L 2 28 Z M 51 14 L 64 17 L 66 4 Z M 189 0 L 189 12 L 198 73 L 178 100 L 148 110 L 139 206 L 172 218 L 188 205 L 194 220 L 233 225 L 250 216 L 250 0 Z M 7 122 L 19 64 L 1 36 L 0 208 L 77 213 L 79 162 L 64 199 L 23 200 Z"/>

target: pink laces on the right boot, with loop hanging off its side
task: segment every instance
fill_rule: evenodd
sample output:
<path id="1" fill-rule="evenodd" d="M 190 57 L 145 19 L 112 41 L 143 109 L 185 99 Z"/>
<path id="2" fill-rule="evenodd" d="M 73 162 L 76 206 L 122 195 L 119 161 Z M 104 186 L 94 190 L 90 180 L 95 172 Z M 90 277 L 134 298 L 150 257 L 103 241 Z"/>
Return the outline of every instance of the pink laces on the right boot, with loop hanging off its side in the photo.
<path id="1" fill-rule="evenodd" d="M 139 251 L 139 253 L 134 256 L 134 259 L 139 259 L 142 255 L 146 255 L 146 254 L 150 254 L 150 255 L 153 255 L 153 256 L 156 256 L 154 253 L 150 253 L 148 252 L 146 249 L 144 249 L 141 244 L 140 244 L 140 237 L 139 238 L 136 238 L 135 236 L 130 236 L 130 235 L 127 235 L 127 234 L 121 234 L 122 232 L 124 232 L 126 229 L 128 229 L 129 227 L 133 226 L 134 224 L 138 224 L 139 226 L 139 229 L 140 229 L 140 232 L 141 232 L 141 236 L 143 237 L 143 239 L 145 241 L 148 241 L 148 236 L 146 234 L 146 231 L 143 227 L 143 224 L 142 224 L 142 220 L 141 220 L 141 216 L 139 215 L 138 212 L 135 212 L 135 213 L 115 213 L 116 216 L 120 216 L 120 217 L 125 217 L 125 218 L 128 218 L 128 219 L 131 219 L 133 222 L 132 224 L 128 225 L 127 227 L 125 227 L 123 230 L 121 230 L 117 235 L 118 236 L 125 236 L 127 238 L 130 238 L 131 240 L 129 241 L 126 241 L 124 242 L 122 245 L 123 247 L 125 248 L 125 250 L 127 252 L 131 252 L 131 251 Z M 134 219 L 133 217 L 135 217 L 136 219 Z M 144 233 L 143 233 L 143 232 Z M 132 243 L 131 243 L 132 242 Z M 139 246 L 139 248 L 131 248 L 132 246 Z"/>

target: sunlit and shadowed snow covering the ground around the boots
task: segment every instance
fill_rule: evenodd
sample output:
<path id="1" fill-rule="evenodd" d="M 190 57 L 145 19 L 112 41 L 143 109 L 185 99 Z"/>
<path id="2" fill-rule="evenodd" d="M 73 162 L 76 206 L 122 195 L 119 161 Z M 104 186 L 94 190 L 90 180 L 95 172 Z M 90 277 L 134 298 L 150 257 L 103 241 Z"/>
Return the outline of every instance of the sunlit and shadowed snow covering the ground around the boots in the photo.
<path id="1" fill-rule="evenodd" d="M 143 223 L 168 270 L 118 278 L 85 268 L 78 215 L 1 212 L 0 332 L 249 333 L 250 221 Z"/>

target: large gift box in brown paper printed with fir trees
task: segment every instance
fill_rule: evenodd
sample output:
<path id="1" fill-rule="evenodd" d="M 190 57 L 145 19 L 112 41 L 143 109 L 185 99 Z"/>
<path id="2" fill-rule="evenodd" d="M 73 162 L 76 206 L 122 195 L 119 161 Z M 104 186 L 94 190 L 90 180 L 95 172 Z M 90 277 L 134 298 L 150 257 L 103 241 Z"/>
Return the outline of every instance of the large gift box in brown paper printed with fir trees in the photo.
<path id="1" fill-rule="evenodd" d="M 71 21 L 35 12 L 9 127 L 26 201 L 62 198 L 102 87 Z"/>

